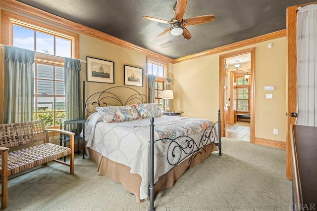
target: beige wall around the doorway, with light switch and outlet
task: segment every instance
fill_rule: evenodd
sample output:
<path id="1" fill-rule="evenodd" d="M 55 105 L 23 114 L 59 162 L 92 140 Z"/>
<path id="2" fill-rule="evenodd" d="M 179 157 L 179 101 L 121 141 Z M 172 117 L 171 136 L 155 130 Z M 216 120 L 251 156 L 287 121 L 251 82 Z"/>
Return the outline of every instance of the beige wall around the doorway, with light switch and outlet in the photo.
<path id="1" fill-rule="evenodd" d="M 272 42 L 273 47 L 267 48 Z M 174 64 L 174 109 L 183 116 L 217 120 L 219 109 L 219 55 L 256 48 L 255 136 L 271 140 L 286 139 L 286 38 L 274 39 L 236 50 Z M 264 91 L 264 85 L 275 85 Z M 273 99 L 266 99 L 272 93 Z M 273 134 L 273 128 L 278 134 Z"/>

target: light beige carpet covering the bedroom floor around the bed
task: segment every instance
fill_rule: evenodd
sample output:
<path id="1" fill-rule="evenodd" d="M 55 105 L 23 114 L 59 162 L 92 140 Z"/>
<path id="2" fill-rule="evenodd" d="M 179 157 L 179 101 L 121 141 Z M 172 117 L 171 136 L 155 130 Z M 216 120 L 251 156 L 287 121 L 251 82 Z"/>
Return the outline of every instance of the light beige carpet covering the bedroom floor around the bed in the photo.
<path id="1" fill-rule="evenodd" d="M 222 139 L 212 153 L 188 169 L 155 200 L 157 211 L 289 211 L 292 182 L 285 176 L 285 150 Z M 6 211 L 146 211 L 120 183 L 99 176 L 97 164 L 75 156 L 75 174 L 51 162 L 8 181 Z"/>

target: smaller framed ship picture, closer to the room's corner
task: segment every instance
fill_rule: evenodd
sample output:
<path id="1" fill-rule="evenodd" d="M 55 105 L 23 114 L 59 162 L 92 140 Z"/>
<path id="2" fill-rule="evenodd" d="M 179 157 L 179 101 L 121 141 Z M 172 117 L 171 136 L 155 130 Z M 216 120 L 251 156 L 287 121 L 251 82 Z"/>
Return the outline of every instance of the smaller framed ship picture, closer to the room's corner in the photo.
<path id="1" fill-rule="evenodd" d="M 143 86 L 143 69 L 124 65 L 124 85 Z"/>

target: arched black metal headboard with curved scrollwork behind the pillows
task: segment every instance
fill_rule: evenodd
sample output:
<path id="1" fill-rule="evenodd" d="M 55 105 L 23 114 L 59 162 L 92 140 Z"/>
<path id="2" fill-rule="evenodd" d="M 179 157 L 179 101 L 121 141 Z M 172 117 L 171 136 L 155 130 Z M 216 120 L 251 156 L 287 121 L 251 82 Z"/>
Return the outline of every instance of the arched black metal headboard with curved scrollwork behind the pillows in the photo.
<path id="1" fill-rule="evenodd" d="M 104 91 L 96 92 L 90 95 L 87 100 L 86 95 L 86 84 L 83 82 L 83 118 L 96 112 L 96 107 L 102 106 L 114 106 L 114 105 L 128 105 L 134 103 L 147 103 L 147 96 L 138 92 L 134 88 L 128 86 L 113 86 L 107 88 Z"/>

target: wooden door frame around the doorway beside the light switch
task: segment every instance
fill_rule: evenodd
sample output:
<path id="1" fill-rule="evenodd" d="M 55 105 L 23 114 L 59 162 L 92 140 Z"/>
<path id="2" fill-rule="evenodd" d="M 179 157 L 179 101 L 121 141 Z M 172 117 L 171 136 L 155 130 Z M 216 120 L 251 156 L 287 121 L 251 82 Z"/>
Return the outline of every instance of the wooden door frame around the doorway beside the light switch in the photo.
<path id="1" fill-rule="evenodd" d="M 219 108 L 221 114 L 220 114 L 220 120 L 221 120 L 221 124 L 220 124 L 220 131 L 221 132 L 221 136 L 225 136 L 225 130 L 224 130 L 224 123 L 223 120 L 224 118 L 224 84 L 225 84 L 225 73 L 223 71 L 223 67 L 225 65 L 225 59 L 229 58 L 229 57 L 233 57 L 233 56 L 238 56 L 238 55 L 242 55 L 242 54 L 246 54 L 246 53 L 250 53 L 251 55 L 251 87 L 250 87 L 250 142 L 251 143 L 255 143 L 255 62 L 256 62 L 256 55 L 255 55 L 255 47 L 253 48 L 247 48 L 247 49 L 243 49 L 243 50 L 239 50 L 239 51 L 235 51 L 235 52 L 231 52 L 231 53 L 226 53 L 226 54 L 222 54 L 219 55 Z"/>

